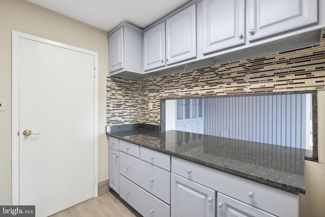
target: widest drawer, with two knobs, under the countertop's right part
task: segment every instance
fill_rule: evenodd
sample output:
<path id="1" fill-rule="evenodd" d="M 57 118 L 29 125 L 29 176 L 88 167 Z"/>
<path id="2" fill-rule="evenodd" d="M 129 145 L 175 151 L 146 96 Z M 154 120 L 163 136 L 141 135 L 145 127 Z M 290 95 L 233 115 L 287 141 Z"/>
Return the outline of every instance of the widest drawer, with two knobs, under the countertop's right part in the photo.
<path id="1" fill-rule="evenodd" d="M 278 216 L 299 216 L 299 195 L 172 157 L 172 172 Z"/>

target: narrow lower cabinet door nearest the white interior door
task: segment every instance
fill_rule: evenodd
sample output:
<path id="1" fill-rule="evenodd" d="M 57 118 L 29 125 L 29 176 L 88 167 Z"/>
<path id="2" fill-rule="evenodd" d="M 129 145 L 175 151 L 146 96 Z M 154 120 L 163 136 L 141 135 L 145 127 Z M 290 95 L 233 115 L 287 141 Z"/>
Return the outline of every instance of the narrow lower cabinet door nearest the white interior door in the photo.
<path id="1" fill-rule="evenodd" d="M 109 148 L 109 185 L 119 193 L 119 152 Z"/>

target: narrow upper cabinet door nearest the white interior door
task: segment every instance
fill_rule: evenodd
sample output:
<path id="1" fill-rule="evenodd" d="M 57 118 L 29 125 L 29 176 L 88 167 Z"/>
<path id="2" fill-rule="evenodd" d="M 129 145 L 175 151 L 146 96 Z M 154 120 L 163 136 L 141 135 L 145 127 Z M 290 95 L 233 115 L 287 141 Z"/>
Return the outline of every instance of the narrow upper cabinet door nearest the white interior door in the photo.
<path id="1" fill-rule="evenodd" d="M 124 68 L 124 27 L 109 37 L 109 69 L 114 72 Z"/>

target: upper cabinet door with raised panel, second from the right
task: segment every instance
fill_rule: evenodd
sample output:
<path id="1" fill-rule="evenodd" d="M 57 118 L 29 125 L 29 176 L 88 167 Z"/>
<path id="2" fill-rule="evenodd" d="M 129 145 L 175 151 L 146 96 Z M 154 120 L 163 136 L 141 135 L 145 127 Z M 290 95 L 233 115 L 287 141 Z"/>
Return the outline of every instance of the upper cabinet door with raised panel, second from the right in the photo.
<path id="1" fill-rule="evenodd" d="M 245 0 L 203 0 L 203 53 L 245 43 Z"/>

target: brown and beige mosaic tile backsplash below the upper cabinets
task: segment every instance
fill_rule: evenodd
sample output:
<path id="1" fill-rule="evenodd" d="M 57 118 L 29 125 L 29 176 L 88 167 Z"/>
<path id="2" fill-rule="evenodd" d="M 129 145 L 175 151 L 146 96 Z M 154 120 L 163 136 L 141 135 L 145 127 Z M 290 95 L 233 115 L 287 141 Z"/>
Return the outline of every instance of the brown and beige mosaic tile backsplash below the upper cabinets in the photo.
<path id="1" fill-rule="evenodd" d="M 107 77 L 107 125 L 160 125 L 160 99 L 253 94 L 325 87 L 320 44 L 140 82 Z M 149 109 L 152 103 L 152 109 Z"/>

